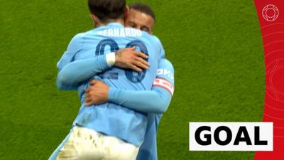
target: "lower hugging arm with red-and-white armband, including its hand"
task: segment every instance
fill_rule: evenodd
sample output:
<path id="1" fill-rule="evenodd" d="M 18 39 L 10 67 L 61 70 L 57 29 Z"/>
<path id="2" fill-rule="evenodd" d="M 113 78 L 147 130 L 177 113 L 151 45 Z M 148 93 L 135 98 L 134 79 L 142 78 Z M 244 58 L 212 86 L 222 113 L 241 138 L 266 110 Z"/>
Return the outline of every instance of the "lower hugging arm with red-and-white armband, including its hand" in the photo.
<path id="1" fill-rule="evenodd" d="M 100 81 L 93 81 L 86 90 L 86 105 L 114 102 L 139 112 L 163 113 L 168 109 L 174 91 L 173 65 L 160 60 L 157 78 L 152 90 L 118 90 Z"/>

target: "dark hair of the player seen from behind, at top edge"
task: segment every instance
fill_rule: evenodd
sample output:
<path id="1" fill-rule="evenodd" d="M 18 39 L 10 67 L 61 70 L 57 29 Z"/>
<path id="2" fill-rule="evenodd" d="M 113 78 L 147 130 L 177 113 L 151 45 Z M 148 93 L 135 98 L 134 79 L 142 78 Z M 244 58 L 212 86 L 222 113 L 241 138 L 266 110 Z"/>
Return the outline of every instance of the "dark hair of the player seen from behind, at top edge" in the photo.
<path id="1" fill-rule="evenodd" d="M 126 0 L 88 0 L 89 11 L 103 23 L 124 18 Z"/>

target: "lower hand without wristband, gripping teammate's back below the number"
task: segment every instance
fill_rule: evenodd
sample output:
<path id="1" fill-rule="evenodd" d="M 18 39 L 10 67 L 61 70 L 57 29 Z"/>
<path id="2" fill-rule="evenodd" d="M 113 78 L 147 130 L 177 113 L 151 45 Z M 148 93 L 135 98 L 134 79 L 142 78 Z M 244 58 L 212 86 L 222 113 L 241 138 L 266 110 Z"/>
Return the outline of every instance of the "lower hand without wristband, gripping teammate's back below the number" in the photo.
<path id="1" fill-rule="evenodd" d="M 109 96 L 109 86 L 99 80 L 92 80 L 89 82 L 89 85 L 91 86 L 85 90 L 86 96 L 84 103 L 86 107 L 107 102 Z"/>

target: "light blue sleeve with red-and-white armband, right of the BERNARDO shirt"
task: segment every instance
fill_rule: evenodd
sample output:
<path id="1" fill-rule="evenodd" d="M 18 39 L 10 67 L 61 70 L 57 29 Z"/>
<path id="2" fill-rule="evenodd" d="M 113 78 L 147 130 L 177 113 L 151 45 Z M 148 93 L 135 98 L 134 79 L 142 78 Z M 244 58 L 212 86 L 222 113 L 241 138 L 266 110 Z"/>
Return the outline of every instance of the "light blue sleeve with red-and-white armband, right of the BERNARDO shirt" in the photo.
<path id="1" fill-rule="evenodd" d="M 165 72 L 161 72 L 163 70 Z M 174 69 L 168 60 L 160 60 L 157 79 L 163 79 L 170 82 L 174 87 Z M 160 72 L 160 73 L 159 73 Z M 152 90 L 133 91 L 119 90 L 114 87 L 109 89 L 109 102 L 128 107 L 139 112 L 164 113 L 170 105 L 173 96 L 173 90 L 168 90 L 162 85 L 153 85 Z"/>

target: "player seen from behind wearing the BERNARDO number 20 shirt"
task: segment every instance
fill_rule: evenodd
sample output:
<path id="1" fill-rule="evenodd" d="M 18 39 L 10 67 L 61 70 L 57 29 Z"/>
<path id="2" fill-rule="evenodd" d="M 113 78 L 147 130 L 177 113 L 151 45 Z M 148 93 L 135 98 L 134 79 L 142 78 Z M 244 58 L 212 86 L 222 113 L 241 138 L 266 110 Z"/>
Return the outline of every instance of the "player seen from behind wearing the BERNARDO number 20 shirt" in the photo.
<path id="1" fill-rule="evenodd" d="M 89 0 L 92 19 L 99 27 L 75 36 L 58 68 L 61 70 L 72 61 L 96 58 L 95 62 L 100 64 L 98 70 L 107 71 L 94 76 L 94 79 L 119 90 L 151 90 L 158 62 L 164 56 L 163 47 L 155 36 L 124 28 L 121 25 L 124 8 L 125 1 Z M 132 46 L 148 55 L 151 67 L 140 73 L 111 68 L 114 54 L 104 53 Z M 146 132 L 147 115 L 111 102 L 85 107 L 84 89 L 88 87 L 88 82 L 74 87 L 79 87 L 82 107 L 75 121 L 76 126 L 62 144 L 57 159 L 85 159 L 85 156 L 93 159 L 135 159 Z"/>

